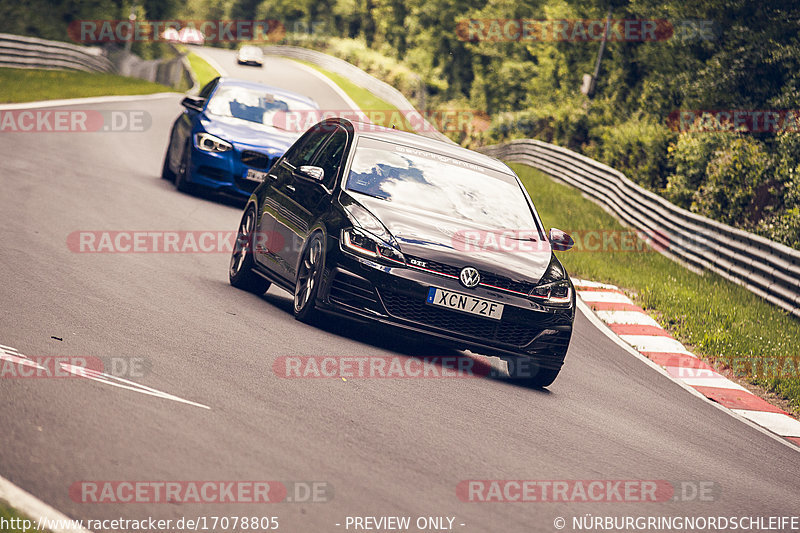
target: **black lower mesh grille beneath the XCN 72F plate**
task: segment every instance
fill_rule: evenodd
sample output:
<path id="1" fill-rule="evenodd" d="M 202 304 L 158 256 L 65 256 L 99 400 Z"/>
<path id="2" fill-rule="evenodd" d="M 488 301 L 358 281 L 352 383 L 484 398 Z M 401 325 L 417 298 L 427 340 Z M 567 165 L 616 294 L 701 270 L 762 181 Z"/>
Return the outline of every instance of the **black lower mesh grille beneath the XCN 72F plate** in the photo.
<path id="1" fill-rule="evenodd" d="M 429 305 L 422 297 L 413 297 L 391 289 L 380 289 L 380 296 L 386 310 L 396 318 L 517 348 L 530 344 L 547 327 L 546 315 L 536 324 L 531 324 L 530 320 L 525 320 L 531 318 L 531 312 L 524 309 L 507 307 L 504 311 L 506 316 L 502 320 L 490 320 Z"/>

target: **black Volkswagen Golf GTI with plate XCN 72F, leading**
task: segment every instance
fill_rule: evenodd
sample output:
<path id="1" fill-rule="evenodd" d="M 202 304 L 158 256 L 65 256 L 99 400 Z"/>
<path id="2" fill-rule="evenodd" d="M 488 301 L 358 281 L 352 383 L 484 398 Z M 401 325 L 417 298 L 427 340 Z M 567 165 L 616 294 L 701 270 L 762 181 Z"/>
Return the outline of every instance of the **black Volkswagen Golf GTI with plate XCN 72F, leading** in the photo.
<path id="1" fill-rule="evenodd" d="M 551 384 L 567 352 L 575 290 L 503 163 L 427 137 L 350 122 L 317 124 L 254 191 L 230 264 L 233 286 L 271 283 L 294 314 L 320 311 L 424 333 L 521 362 Z M 522 365 L 515 365 L 521 367 Z"/>

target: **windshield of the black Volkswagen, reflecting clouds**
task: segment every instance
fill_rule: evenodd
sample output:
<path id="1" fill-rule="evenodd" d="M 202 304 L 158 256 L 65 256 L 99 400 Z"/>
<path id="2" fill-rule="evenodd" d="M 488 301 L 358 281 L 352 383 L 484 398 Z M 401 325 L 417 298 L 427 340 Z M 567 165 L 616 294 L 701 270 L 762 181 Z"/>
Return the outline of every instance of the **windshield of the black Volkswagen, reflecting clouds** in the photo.
<path id="1" fill-rule="evenodd" d="M 537 231 L 513 176 L 404 145 L 359 139 L 347 190 L 487 229 Z"/>

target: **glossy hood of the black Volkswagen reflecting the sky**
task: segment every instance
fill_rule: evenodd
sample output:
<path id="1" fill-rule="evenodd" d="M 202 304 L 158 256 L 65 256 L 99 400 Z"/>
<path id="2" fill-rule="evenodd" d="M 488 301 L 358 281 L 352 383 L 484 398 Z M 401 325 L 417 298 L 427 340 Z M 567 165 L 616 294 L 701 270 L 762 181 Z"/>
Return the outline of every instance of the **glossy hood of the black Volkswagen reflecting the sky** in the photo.
<path id="1" fill-rule="evenodd" d="M 357 200 L 378 217 L 407 255 L 457 268 L 472 266 L 532 283 L 541 279 L 550 264 L 550 243 L 541 238 L 515 240 L 510 233 L 487 232 L 459 218 L 419 213 L 364 195 L 358 195 Z M 470 240 L 474 236 L 477 241 Z"/>

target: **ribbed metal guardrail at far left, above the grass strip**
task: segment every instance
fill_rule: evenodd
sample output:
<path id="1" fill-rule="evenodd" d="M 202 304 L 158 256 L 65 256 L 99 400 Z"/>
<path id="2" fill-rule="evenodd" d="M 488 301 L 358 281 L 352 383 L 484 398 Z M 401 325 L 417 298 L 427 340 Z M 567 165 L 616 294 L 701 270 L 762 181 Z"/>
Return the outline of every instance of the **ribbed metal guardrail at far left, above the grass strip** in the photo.
<path id="1" fill-rule="evenodd" d="M 116 72 L 101 48 L 0 33 L 0 66 Z"/>

